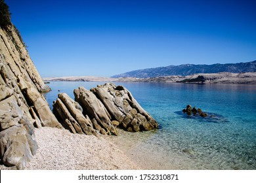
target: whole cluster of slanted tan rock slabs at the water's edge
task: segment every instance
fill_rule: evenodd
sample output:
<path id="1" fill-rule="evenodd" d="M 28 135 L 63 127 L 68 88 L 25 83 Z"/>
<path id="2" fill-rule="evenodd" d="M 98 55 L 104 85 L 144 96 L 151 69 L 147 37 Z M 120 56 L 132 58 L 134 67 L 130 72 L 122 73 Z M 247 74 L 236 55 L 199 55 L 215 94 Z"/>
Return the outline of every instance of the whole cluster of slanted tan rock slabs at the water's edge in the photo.
<path id="1" fill-rule="evenodd" d="M 74 95 L 75 101 L 66 93 L 60 93 L 53 105 L 54 114 L 72 133 L 117 135 L 116 127 L 127 131 L 158 127 L 156 120 L 123 86 L 104 84 L 91 91 L 79 87 Z"/>

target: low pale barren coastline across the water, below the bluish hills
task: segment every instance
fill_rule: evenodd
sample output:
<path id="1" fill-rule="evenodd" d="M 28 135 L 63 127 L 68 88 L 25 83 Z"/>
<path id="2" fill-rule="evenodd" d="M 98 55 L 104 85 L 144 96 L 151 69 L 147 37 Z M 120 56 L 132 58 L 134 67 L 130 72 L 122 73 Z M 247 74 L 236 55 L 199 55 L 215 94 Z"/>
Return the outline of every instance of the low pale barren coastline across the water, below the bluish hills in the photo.
<path id="1" fill-rule="evenodd" d="M 182 82 L 196 84 L 256 84 L 256 72 L 250 73 L 199 73 L 188 76 L 160 76 L 155 78 L 108 78 L 98 76 L 63 76 L 43 78 L 51 81 L 83 81 L 83 82 Z"/>

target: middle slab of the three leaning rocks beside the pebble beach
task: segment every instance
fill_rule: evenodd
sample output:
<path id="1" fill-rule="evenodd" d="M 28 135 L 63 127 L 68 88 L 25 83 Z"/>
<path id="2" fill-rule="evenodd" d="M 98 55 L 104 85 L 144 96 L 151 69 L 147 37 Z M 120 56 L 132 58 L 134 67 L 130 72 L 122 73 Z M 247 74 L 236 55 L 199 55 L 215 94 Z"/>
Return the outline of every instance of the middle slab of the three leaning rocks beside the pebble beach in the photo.
<path id="1" fill-rule="evenodd" d="M 84 114 L 88 114 L 91 119 L 95 118 L 97 124 L 100 125 L 108 135 L 117 135 L 116 128 L 110 120 L 110 114 L 93 92 L 79 87 L 74 90 L 74 95 L 75 101 L 81 105 Z"/>

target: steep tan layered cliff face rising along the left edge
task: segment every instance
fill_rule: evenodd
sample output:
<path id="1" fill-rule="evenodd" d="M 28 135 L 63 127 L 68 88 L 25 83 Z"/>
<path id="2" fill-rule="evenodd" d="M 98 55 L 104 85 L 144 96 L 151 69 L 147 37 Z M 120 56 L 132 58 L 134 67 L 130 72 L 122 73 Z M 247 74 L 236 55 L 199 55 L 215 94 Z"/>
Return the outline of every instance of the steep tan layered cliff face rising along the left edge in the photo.
<path id="1" fill-rule="evenodd" d="M 34 127 L 62 127 L 41 92 L 49 92 L 12 25 L 0 27 L 0 160 L 24 169 L 37 149 Z"/>

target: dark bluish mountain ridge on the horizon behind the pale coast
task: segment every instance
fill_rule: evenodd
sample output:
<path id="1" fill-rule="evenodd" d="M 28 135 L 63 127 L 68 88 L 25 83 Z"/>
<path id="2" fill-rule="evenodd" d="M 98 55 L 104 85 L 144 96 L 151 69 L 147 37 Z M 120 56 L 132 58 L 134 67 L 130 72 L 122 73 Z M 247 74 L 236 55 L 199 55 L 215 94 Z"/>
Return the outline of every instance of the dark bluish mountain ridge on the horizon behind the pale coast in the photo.
<path id="1" fill-rule="evenodd" d="M 114 75 L 112 78 L 119 77 L 135 77 L 135 78 L 154 78 L 159 76 L 187 76 L 197 73 L 247 73 L 256 71 L 256 60 L 245 63 L 226 63 L 226 64 L 212 64 L 212 65 L 169 65 L 167 67 L 156 67 L 150 69 L 140 69 L 130 71 L 120 75 Z"/>

